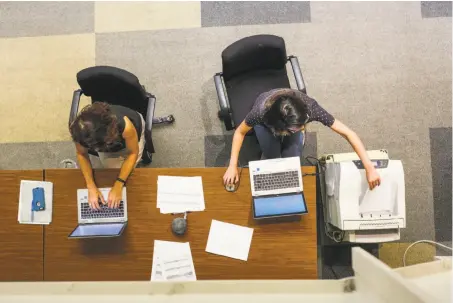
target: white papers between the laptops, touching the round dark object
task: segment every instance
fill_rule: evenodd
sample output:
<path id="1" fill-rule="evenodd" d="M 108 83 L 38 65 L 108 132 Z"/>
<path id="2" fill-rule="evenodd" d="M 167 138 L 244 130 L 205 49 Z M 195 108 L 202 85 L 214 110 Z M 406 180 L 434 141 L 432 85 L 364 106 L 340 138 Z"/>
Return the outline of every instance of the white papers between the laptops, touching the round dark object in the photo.
<path id="1" fill-rule="evenodd" d="M 159 176 L 157 208 L 162 214 L 203 211 L 205 203 L 201 177 Z"/>

